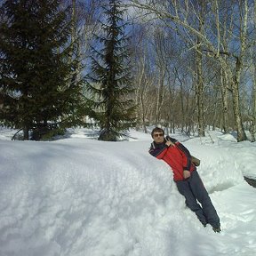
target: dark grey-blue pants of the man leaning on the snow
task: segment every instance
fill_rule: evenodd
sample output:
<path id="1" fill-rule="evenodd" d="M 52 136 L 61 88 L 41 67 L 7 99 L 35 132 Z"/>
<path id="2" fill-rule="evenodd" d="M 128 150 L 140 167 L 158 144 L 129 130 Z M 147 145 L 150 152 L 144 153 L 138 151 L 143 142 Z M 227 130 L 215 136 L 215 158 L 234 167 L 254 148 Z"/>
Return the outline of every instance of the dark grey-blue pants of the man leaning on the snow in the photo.
<path id="1" fill-rule="evenodd" d="M 219 216 L 198 172 L 191 172 L 188 179 L 178 180 L 176 184 L 180 194 L 185 196 L 188 208 L 196 213 L 204 226 L 209 223 L 212 227 L 220 227 Z M 196 199 L 202 206 L 197 203 Z"/>

